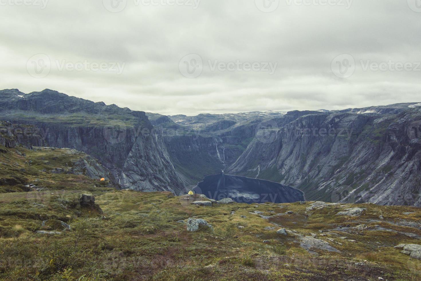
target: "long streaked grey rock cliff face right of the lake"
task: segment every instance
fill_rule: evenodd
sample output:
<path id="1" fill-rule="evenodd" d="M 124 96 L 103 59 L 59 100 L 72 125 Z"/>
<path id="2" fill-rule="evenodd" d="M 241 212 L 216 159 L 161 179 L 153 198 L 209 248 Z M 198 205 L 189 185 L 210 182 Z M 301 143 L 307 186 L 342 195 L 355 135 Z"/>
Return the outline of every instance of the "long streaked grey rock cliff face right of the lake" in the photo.
<path id="1" fill-rule="evenodd" d="M 288 113 L 228 172 L 298 187 L 307 200 L 421 206 L 421 111 L 390 112 Z"/>

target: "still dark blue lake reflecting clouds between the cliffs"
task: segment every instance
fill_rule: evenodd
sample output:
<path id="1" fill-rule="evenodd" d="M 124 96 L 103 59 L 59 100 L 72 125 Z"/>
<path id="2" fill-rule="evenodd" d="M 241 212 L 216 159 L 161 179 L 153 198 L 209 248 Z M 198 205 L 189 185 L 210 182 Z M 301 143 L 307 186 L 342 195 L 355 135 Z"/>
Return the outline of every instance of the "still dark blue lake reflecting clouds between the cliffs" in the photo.
<path id="1" fill-rule="evenodd" d="M 304 194 L 293 187 L 262 179 L 231 175 L 207 176 L 194 189 L 214 200 L 232 198 L 239 203 L 290 203 L 304 201 Z"/>

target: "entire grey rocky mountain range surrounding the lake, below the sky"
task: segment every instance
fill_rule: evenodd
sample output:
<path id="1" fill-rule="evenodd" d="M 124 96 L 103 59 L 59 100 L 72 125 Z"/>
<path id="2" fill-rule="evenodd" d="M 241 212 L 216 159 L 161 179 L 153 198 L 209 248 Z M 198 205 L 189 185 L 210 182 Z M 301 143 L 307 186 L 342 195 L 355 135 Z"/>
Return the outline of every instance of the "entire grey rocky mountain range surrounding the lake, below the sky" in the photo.
<path id="1" fill-rule="evenodd" d="M 298 188 L 306 200 L 421 206 L 419 102 L 165 116 L 8 89 L 0 120 L 9 124 L 2 144 L 14 135 L 21 145 L 81 151 L 120 189 L 180 195 L 224 171 Z"/>

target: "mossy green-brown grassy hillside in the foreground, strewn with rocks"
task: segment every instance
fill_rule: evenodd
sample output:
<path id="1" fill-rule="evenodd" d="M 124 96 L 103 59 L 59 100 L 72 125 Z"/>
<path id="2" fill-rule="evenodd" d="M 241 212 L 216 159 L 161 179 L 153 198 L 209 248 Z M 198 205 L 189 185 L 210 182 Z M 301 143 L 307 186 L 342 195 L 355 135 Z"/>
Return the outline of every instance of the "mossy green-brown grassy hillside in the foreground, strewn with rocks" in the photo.
<path id="1" fill-rule="evenodd" d="M 85 175 L 48 172 L 70 169 L 84 157 L 74 150 L 1 147 L 0 157 L 0 179 L 19 182 L 0 187 L 0 280 L 421 279 L 421 261 L 394 248 L 421 244 L 418 208 L 195 206 L 193 201 L 207 199 L 113 190 Z M 31 182 L 36 187 L 25 187 Z M 96 205 L 84 205 L 83 193 L 94 195 Z M 365 210 L 355 217 L 336 215 L 351 207 Z M 189 218 L 205 219 L 212 228 L 190 232 Z M 287 236 L 277 233 L 281 228 Z M 304 249 L 303 239 L 335 251 Z"/>

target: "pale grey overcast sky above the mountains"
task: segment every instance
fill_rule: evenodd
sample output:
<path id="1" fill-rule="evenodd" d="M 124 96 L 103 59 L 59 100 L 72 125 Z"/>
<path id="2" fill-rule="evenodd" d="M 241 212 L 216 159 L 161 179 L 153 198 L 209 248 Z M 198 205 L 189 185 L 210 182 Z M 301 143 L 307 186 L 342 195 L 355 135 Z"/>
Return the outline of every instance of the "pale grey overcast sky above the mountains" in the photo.
<path id="1" fill-rule="evenodd" d="M 0 22 L 2 89 L 165 115 L 421 101 L 420 0 L 0 0 Z"/>

